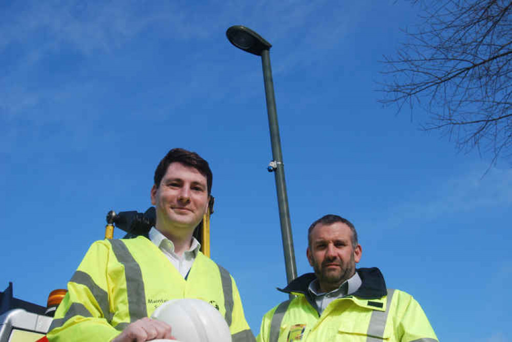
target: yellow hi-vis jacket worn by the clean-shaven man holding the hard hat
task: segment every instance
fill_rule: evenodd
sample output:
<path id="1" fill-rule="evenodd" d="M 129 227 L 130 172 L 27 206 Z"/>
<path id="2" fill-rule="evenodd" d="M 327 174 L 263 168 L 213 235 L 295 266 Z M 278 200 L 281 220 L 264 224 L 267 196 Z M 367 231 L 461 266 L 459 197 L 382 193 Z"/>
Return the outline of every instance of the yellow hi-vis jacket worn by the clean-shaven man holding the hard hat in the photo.
<path id="1" fill-rule="evenodd" d="M 153 242 L 94 242 L 68 283 L 55 312 L 50 341 L 110 341 L 126 326 L 151 316 L 162 303 L 197 298 L 225 317 L 233 342 L 254 341 L 240 294 L 228 271 L 198 252 L 187 279 Z"/>

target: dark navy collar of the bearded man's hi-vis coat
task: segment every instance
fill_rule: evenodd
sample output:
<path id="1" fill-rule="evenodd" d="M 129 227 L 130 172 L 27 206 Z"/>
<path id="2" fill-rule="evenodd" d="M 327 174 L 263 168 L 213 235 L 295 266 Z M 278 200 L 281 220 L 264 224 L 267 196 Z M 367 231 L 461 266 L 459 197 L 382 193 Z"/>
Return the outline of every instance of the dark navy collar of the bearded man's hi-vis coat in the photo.
<path id="1" fill-rule="evenodd" d="M 377 267 L 356 269 L 361 278 L 361 286 L 351 295 L 359 298 L 381 298 L 386 295 L 386 282 Z M 285 288 L 278 288 L 285 293 L 302 293 L 307 295 L 309 284 L 316 279 L 315 273 L 306 273 L 291 281 Z"/>

